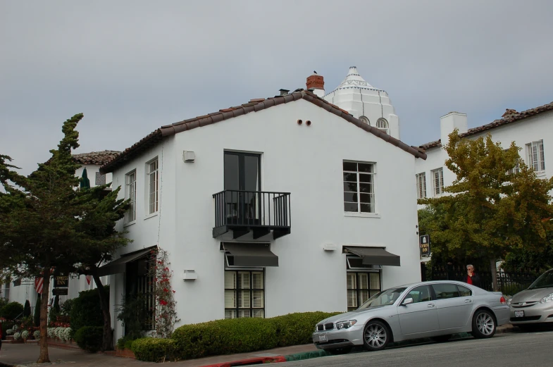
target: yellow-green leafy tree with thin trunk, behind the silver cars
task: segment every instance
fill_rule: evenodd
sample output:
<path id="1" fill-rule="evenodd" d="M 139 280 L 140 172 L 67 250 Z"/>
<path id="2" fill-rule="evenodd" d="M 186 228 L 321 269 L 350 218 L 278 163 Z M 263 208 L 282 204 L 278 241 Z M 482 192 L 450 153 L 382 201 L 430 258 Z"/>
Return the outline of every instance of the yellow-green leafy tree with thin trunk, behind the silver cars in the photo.
<path id="1" fill-rule="evenodd" d="M 503 149 L 491 135 L 461 139 L 455 130 L 445 146 L 445 166 L 456 175 L 444 188 L 450 195 L 418 200 L 440 217 L 428 226 L 433 251 L 486 260 L 495 290 L 496 260 L 520 249 L 543 251 L 552 229 L 553 179 L 538 179 L 518 150 L 514 143 Z M 519 171 L 509 172 L 517 162 Z"/>

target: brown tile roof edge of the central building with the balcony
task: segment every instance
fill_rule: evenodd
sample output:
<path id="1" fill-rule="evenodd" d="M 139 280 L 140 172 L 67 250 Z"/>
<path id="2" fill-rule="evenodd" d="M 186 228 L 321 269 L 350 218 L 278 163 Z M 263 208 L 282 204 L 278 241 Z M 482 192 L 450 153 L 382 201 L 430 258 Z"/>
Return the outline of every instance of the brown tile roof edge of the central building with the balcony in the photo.
<path id="1" fill-rule="evenodd" d="M 213 123 L 218 123 L 223 120 L 228 120 L 229 118 L 245 115 L 246 113 L 261 111 L 272 106 L 278 106 L 279 104 L 287 104 L 299 99 L 309 101 L 312 104 L 315 104 L 316 106 L 319 106 L 330 113 L 334 113 L 336 116 L 340 116 L 344 120 L 347 120 L 349 123 L 353 123 L 366 132 L 370 132 L 371 134 L 380 137 L 380 139 L 383 139 L 386 142 L 389 142 L 390 144 L 393 144 L 396 147 L 399 147 L 400 149 L 413 154 L 416 158 L 426 159 L 426 154 L 424 153 L 424 151 L 421 151 L 421 149 L 418 149 L 418 147 L 410 147 L 404 142 L 401 142 L 399 139 L 391 137 L 390 135 L 387 135 L 384 132 L 378 130 L 376 127 L 367 125 L 366 123 L 361 123 L 361 121 L 354 118 L 347 111 L 342 110 L 342 108 L 317 97 L 316 94 L 313 94 L 312 92 L 300 89 L 297 92 L 285 94 L 282 96 L 275 96 L 267 99 L 251 99 L 251 101 L 247 104 L 242 104 L 240 106 L 234 106 L 230 108 L 222 108 L 217 112 L 208 113 L 204 116 L 189 118 L 188 120 L 183 120 L 178 123 L 161 126 L 159 127 L 159 129 L 151 132 L 147 137 L 144 137 L 139 142 L 133 144 L 132 147 L 125 149 L 121 154 L 113 159 L 113 161 L 106 163 L 100 168 L 100 171 L 101 173 L 113 172 L 113 170 L 115 170 L 116 168 L 123 166 L 125 162 L 130 161 L 132 160 L 132 158 L 135 158 L 135 156 L 141 154 L 142 151 L 145 151 L 146 149 L 149 149 L 150 147 L 153 147 L 154 145 L 161 142 L 161 139 L 163 139 L 163 137 L 175 135 L 178 132 L 183 132 L 186 130 L 192 130 L 196 127 L 204 127 Z"/>

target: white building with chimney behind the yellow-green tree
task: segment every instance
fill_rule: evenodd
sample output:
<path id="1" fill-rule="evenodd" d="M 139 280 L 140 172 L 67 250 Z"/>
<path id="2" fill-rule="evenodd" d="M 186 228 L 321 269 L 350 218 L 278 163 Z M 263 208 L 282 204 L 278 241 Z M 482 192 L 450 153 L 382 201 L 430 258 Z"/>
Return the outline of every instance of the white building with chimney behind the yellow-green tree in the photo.
<path id="1" fill-rule="evenodd" d="M 517 112 L 507 109 L 502 118 L 486 125 L 468 128 L 466 113 L 449 112 L 440 118 L 440 139 L 422 144 L 427 154 L 426 160 L 415 161 L 417 198 L 440 197 L 443 189 L 452 185 L 455 175 L 445 166 L 448 158 L 443 146 L 449 142 L 449 134 L 455 129 L 466 139 L 478 139 L 487 134 L 494 142 L 500 142 L 504 149 L 511 142 L 521 148 L 518 152 L 528 166 L 536 171 L 538 178 L 551 178 L 553 175 L 553 102 Z M 517 169 L 517 168 L 515 168 Z M 419 205 L 418 209 L 424 206 Z M 431 242 L 431 240 L 430 240 Z M 423 258 L 428 261 L 430 257 Z"/>

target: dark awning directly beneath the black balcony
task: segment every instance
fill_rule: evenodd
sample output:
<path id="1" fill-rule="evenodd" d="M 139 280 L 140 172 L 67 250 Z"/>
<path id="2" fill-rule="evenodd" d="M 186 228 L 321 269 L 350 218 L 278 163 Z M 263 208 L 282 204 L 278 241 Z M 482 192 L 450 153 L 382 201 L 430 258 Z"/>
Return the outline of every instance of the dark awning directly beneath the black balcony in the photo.
<path id="1" fill-rule="evenodd" d="M 278 266 L 270 244 L 223 242 L 229 266 Z"/>

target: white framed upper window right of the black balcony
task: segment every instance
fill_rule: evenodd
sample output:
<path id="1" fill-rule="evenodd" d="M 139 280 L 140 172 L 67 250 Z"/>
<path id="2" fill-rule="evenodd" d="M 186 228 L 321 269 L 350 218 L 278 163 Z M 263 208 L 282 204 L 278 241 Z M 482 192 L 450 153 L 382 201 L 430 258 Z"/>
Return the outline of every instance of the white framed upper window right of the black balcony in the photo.
<path id="1" fill-rule="evenodd" d="M 344 161 L 344 212 L 375 213 L 375 164 Z"/>

